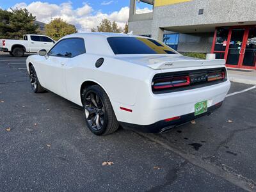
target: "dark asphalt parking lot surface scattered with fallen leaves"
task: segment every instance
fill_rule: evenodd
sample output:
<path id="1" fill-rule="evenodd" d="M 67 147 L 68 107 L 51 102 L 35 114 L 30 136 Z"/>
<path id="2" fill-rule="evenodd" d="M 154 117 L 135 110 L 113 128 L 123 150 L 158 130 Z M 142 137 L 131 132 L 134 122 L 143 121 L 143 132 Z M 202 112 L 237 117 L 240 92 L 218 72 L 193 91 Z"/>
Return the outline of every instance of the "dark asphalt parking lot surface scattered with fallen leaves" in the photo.
<path id="1" fill-rule="evenodd" d="M 1 191 L 255 191 L 256 88 L 163 134 L 95 136 L 79 106 L 31 91 L 25 61 L 0 55 Z"/>

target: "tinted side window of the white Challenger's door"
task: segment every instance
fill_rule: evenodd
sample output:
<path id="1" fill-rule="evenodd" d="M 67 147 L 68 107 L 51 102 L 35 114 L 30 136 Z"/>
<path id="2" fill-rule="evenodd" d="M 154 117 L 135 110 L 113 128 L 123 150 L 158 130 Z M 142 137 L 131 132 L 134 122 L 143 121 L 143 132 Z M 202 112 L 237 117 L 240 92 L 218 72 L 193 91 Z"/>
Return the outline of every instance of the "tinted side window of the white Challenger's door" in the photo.
<path id="1" fill-rule="evenodd" d="M 85 52 L 83 38 L 67 38 L 61 40 L 54 47 L 52 47 L 52 49 L 48 52 L 48 55 L 72 58 Z"/>

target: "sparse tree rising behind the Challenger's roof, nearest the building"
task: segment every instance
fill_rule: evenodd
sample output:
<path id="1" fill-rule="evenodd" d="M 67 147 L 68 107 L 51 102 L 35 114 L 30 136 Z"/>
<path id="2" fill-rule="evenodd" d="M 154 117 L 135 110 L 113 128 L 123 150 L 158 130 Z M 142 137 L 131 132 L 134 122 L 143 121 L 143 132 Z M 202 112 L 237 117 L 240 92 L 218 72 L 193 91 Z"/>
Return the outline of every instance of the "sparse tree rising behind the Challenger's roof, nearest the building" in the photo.
<path id="1" fill-rule="evenodd" d="M 92 32 L 112 32 L 112 33 L 121 33 L 122 28 L 118 28 L 117 23 L 115 21 L 111 22 L 108 19 L 102 19 L 97 29 L 92 28 Z"/>

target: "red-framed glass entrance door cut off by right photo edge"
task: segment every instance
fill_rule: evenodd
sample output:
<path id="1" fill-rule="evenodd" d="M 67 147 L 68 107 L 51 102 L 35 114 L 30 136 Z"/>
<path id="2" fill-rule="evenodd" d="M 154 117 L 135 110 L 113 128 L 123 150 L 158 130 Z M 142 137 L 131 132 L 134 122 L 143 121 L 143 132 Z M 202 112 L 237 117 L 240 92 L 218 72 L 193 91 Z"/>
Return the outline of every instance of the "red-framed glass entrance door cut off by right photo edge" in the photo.
<path id="1" fill-rule="evenodd" d="M 241 68 L 256 67 L 256 26 L 248 28 L 246 34 L 246 45 L 243 49 L 243 61 Z"/>

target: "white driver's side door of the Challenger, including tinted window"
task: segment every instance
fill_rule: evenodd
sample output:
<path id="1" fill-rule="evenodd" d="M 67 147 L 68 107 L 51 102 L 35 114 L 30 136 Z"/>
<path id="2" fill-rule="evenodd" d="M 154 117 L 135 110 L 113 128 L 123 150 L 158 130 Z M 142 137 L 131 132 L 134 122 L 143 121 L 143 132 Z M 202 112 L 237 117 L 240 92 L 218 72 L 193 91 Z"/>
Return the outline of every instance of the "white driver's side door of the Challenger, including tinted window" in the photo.
<path id="1" fill-rule="evenodd" d="M 41 67 L 44 73 L 44 83 L 47 89 L 67 98 L 65 70 L 70 68 L 69 63 L 79 54 L 85 52 L 81 49 L 83 38 L 66 38 L 58 42 L 45 57 L 45 64 Z M 84 46 L 84 41 L 83 41 Z"/>

